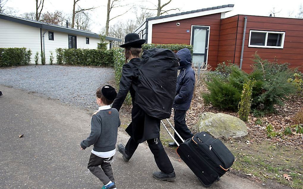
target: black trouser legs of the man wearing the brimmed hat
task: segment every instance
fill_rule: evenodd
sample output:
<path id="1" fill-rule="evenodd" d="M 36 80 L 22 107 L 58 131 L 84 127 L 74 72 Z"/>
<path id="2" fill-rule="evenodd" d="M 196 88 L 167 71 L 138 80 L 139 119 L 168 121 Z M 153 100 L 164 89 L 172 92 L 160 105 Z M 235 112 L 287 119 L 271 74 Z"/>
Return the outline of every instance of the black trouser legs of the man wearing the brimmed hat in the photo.
<path id="1" fill-rule="evenodd" d="M 172 173 L 174 168 L 171 165 L 171 161 L 169 160 L 163 145 L 159 138 L 153 138 L 147 140 L 148 147 L 151 150 L 151 153 L 154 155 L 156 164 L 160 171 L 164 173 Z M 135 142 L 132 137 L 129 138 L 127 144 L 125 145 L 125 152 L 127 155 L 132 157 L 136 149 L 138 148 L 139 143 Z"/>

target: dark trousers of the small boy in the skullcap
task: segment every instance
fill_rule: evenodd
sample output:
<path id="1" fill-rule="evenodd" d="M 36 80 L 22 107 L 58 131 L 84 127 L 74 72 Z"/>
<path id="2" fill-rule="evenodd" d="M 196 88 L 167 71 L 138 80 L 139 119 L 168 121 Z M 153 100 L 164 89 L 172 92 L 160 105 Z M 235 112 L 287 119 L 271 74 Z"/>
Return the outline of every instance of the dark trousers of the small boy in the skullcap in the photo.
<path id="1" fill-rule="evenodd" d="M 113 157 L 114 156 L 111 158 L 101 158 L 93 153 L 89 157 L 87 168 L 92 174 L 98 177 L 104 185 L 109 181 L 115 182 L 112 166 L 110 162 L 106 162 L 112 161 Z M 101 166 L 101 168 L 99 166 Z"/>

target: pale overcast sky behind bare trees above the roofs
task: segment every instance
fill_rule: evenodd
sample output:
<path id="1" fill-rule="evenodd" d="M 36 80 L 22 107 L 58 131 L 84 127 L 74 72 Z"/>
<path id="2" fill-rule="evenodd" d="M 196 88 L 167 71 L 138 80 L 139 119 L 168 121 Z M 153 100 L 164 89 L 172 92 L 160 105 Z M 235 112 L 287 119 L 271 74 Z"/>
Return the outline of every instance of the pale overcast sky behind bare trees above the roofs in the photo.
<path id="1" fill-rule="evenodd" d="M 129 3 L 129 7 L 115 8 L 111 12 L 111 18 L 119 15 L 134 5 L 145 5 L 149 8 L 154 8 L 152 3 L 148 3 L 143 0 L 122 0 L 124 3 Z M 157 0 L 149 0 L 154 4 L 157 4 Z M 162 0 L 161 4 L 168 2 L 168 0 Z M 101 29 L 105 27 L 106 22 L 106 6 L 107 0 L 81 0 L 78 2 L 81 8 L 90 8 L 95 6 L 93 11 L 89 11 L 91 14 L 91 30 L 96 33 L 100 33 Z M 254 0 L 254 1 L 243 1 L 243 0 L 172 0 L 169 5 L 164 9 L 169 10 L 171 8 L 180 8 L 180 11 L 191 11 L 201 8 L 208 8 L 220 5 L 234 4 L 234 10 L 226 14 L 226 16 L 233 16 L 238 14 L 244 15 L 259 15 L 268 16 L 270 11 L 275 8 L 275 12 L 281 11 L 276 16 L 278 17 L 295 17 L 298 13 L 299 6 L 303 5 L 303 0 Z M 8 0 L 6 6 L 14 8 L 17 12 L 16 16 L 20 16 L 25 12 L 35 11 L 35 0 Z M 72 14 L 73 0 L 45 0 L 45 5 L 42 12 L 53 12 L 55 10 L 61 10 L 66 14 Z M 127 14 L 113 19 L 110 22 L 115 24 L 119 20 L 135 19 L 135 10 L 129 11 Z M 174 14 L 179 11 L 170 11 L 170 14 Z M 155 12 L 156 14 L 156 12 Z"/>

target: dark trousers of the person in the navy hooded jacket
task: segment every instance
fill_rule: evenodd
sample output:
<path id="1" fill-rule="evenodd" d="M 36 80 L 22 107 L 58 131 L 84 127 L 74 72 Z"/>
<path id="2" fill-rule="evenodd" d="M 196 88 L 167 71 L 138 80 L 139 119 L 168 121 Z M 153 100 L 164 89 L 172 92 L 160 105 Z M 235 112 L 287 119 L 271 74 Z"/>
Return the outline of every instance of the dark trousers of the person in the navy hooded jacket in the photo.
<path id="1" fill-rule="evenodd" d="M 175 129 L 179 133 L 179 135 L 183 138 L 183 140 L 186 140 L 188 138 L 191 138 L 193 134 L 188 129 L 186 123 L 185 123 L 185 116 L 186 116 L 187 110 L 174 110 L 174 122 L 175 122 Z M 182 141 L 178 137 L 178 135 L 175 133 L 175 139 L 176 141 L 181 144 Z"/>

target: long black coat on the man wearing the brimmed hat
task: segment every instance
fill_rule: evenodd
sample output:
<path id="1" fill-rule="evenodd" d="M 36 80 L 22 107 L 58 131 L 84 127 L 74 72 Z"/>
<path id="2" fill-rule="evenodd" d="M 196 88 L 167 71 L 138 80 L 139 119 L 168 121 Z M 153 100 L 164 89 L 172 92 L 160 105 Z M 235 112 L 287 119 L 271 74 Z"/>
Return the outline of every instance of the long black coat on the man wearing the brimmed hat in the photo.
<path id="1" fill-rule="evenodd" d="M 122 67 L 122 77 L 120 79 L 119 91 L 112 105 L 112 108 L 120 110 L 128 91 L 132 96 L 132 122 L 125 131 L 136 142 L 141 143 L 148 139 L 160 137 L 160 120 L 148 116 L 135 103 L 135 89 L 138 87 L 138 69 L 141 64 L 140 58 L 133 58 Z"/>

